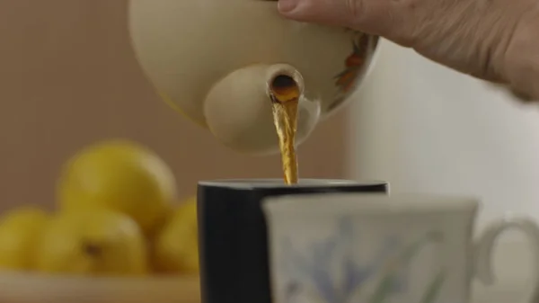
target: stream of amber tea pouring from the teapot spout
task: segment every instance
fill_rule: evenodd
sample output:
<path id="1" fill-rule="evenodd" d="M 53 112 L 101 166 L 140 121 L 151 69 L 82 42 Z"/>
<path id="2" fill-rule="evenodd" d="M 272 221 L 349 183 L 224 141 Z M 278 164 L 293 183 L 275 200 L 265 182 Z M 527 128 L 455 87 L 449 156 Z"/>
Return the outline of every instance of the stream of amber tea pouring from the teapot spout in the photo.
<path id="1" fill-rule="evenodd" d="M 273 123 L 278 135 L 285 183 L 297 183 L 296 127 L 300 91 L 291 76 L 276 76 L 270 84 Z"/>

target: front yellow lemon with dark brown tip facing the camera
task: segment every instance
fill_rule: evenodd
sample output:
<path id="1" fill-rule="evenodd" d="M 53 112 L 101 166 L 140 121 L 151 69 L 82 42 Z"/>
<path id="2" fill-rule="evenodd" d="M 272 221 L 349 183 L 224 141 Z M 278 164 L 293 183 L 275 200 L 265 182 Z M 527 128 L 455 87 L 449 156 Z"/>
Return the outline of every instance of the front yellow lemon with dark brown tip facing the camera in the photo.
<path id="1" fill-rule="evenodd" d="M 137 223 L 120 212 L 86 209 L 51 218 L 36 249 L 39 272 L 138 276 L 147 246 Z"/>

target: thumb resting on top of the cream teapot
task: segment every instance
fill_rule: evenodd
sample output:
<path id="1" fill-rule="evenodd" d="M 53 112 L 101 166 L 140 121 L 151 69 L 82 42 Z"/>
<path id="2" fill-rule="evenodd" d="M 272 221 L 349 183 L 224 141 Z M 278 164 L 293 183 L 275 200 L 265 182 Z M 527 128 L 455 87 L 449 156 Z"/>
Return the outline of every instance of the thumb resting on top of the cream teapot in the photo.
<path id="1" fill-rule="evenodd" d="M 393 0 L 278 0 L 289 19 L 345 26 L 380 34 L 393 26 Z"/>

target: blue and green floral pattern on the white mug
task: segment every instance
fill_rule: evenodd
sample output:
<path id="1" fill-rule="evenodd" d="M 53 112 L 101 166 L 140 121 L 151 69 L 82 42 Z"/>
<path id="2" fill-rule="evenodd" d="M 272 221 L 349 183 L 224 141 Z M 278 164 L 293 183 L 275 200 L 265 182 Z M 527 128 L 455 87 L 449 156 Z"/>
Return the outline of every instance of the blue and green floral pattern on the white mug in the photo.
<path id="1" fill-rule="evenodd" d="M 367 282 L 376 287 L 367 295 L 368 303 L 383 303 L 394 294 L 407 290 L 408 268 L 411 259 L 423 245 L 441 241 L 439 233 L 428 233 L 411 245 L 402 245 L 399 236 L 387 236 L 376 254 L 365 263 L 356 262 L 353 222 L 340 218 L 331 236 L 309 245 L 299 253 L 289 236 L 283 239 L 281 266 L 287 272 L 284 303 L 352 303 L 365 297 L 362 291 Z M 434 303 L 444 280 L 440 273 L 418 303 Z M 306 282 L 308 281 L 308 282 Z"/>

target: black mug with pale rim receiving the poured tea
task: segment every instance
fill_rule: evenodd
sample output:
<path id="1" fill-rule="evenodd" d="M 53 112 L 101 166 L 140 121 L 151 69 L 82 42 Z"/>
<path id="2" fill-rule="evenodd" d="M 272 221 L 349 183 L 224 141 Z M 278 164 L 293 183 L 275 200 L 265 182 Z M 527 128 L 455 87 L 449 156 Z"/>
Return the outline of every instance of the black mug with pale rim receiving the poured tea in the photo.
<path id="1" fill-rule="evenodd" d="M 301 193 L 388 192 L 384 182 L 278 179 L 200 182 L 198 187 L 202 303 L 271 303 L 266 197 Z"/>

